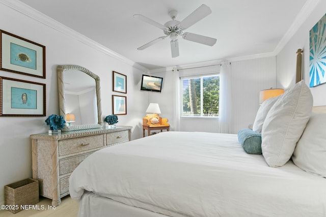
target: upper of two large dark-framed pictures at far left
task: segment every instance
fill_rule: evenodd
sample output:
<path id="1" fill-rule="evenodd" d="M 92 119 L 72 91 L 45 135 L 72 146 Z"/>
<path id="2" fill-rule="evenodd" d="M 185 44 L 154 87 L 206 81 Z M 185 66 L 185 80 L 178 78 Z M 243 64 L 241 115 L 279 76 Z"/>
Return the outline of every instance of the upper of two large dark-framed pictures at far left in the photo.
<path id="1" fill-rule="evenodd" d="M 0 70 L 45 78 L 45 46 L 0 29 Z"/>

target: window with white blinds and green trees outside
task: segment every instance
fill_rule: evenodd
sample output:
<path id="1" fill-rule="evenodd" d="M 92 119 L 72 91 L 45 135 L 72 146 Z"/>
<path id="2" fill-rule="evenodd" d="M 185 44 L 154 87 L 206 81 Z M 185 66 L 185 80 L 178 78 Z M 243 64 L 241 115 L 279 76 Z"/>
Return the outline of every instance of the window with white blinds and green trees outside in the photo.
<path id="1" fill-rule="evenodd" d="M 219 75 L 183 77 L 181 88 L 183 117 L 219 116 Z"/>

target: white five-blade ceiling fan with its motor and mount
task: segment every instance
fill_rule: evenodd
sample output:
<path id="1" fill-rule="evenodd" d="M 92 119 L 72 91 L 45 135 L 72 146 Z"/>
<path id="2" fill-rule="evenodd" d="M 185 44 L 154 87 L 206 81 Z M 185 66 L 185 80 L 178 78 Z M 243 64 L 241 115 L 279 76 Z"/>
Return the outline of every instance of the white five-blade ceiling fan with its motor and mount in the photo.
<path id="1" fill-rule="evenodd" d="M 163 30 L 165 36 L 159 37 L 154 39 L 151 42 L 137 48 L 138 50 L 144 50 L 149 46 L 166 39 L 168 36 L 171 38 L 171 52 L 172 57 L 179 56 L 179 45 L 178 45 L 178 36 L 182 36 L 183 39 L 188 41 L 197 42 L 200 44 L 205 44 L 209 46 L 213 46 L 216 43 L 216 39 L 210 38 L 207 36 L 201 36 L 194 33 L 184 33 L 183 30 L 189 28 L 190 26 L 194 25 L 204 17 L 208 16 L 212 11 L 206 5 L 201 5 L 197 8 L 193 13 L 189 14 L 186 18 L 184 18 L 181 22 L 176 20 L 178 15 L 177 11 L 171 11 L 169 15 L 171 16 L 172 20 L 166 22 L 164 25 L 151 20 L 141 14 L 133 15 L 134 18 L 138 18 L 144 22 L 147 22 L 151 25 L 154 25 Z"/>

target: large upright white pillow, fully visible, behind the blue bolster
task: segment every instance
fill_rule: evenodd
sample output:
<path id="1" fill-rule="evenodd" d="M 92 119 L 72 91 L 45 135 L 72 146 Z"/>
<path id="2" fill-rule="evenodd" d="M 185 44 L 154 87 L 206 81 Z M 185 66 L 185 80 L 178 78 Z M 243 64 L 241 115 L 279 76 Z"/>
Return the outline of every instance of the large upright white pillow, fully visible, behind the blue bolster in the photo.
<path id="1" fill-rule="evenodd" d="M 270 108 L 261 131 L 261 149 L 270 167 L 281 167 L 291 158 L 309 120 L 312 104 L 310 89 L 302 80 Z"/>

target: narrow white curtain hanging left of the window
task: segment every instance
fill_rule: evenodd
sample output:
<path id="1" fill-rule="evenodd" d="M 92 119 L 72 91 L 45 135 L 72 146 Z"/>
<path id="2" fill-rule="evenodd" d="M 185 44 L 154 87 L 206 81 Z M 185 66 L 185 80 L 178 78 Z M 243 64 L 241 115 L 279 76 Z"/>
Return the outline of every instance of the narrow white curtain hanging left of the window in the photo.
<path id="1" fill-rule="evenodd" d="M 173 69 L 174 76 L 174 127 L 175 131 L 180 131 L 180 74 L 179 71 L 174 68 Z"/>

